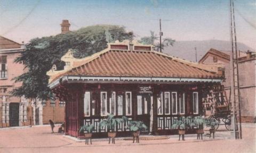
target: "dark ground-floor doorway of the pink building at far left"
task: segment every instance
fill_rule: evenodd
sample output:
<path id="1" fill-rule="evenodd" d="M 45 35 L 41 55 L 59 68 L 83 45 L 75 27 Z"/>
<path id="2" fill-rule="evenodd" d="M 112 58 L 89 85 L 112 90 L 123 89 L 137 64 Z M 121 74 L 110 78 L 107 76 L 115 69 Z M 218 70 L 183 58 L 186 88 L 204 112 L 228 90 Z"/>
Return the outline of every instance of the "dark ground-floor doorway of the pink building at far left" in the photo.
<path id="1" fill-rule="evenodd" d="M 19 126 L 19 103 L 10 103 L 10 126 Z"/>

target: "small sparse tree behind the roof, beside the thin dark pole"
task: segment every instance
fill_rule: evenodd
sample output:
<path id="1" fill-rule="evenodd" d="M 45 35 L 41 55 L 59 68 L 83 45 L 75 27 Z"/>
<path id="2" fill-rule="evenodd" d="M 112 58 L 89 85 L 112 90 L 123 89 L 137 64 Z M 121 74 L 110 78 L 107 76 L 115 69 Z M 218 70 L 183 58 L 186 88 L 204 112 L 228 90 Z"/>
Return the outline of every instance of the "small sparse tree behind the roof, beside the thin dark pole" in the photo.
<path id="1" fill-rule="evenodd" d="M 160 51 L 160 43 L 155 43 L 155 41 L 157 41 L 158 39 L 159 39 L 159 37 L 154 33 L 154 31 L 150 31 L 150 36 L 142 37 L 139 42 L 142 44 L 148 44 L 148 45 L 152 44 L 152 45 L 154 45 L 155 51 Z M 170 46 L 170 45 L 173 46 L 174 43 L 175 43 L 174 39 L 164 38 L 161 48 L 163 50 L 167 46 Z"/>

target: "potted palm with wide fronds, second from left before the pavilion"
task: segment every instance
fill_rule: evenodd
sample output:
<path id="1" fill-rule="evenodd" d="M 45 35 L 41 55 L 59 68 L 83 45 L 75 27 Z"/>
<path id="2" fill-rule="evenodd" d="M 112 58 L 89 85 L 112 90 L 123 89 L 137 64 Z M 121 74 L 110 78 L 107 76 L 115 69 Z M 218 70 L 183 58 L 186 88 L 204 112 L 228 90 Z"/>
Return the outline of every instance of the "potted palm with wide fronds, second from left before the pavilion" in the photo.
<path id="1" fill-rule="evenodd" d="M 123 116 L 122 118 L 115 118 L 113 114 L 107 115 L 106 119 L 100 121 L 99 126 L 100 128 L 107 128 L 108 131 L 108 138 L 110 143 L 110 138 L 112 138 L 112 143 L 115 143 L 116 131 L 115 127 L 123 122 L 126 122 L 127 118 Z"/>

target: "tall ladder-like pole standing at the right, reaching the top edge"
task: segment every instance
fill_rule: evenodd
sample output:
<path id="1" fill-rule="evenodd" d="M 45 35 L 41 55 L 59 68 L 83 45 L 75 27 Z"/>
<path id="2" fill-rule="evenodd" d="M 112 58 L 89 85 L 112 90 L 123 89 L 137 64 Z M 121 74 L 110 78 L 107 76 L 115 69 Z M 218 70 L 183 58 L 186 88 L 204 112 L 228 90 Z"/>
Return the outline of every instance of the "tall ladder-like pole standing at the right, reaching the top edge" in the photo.
<path id="1" fill-rule="evenodd" d="M 239 92 L 239 76 L 238 76 L 238 54 L 236 43 L 236 26 L 234 1 L 230 0 L 230 19 L 231 19 L 231 45 L 232 52 L 230 54 L 230 73 L 231 73 L 231 138 L 242 139 L 241 125 L 241 109 L 240 109 L 240 92 Z"/>

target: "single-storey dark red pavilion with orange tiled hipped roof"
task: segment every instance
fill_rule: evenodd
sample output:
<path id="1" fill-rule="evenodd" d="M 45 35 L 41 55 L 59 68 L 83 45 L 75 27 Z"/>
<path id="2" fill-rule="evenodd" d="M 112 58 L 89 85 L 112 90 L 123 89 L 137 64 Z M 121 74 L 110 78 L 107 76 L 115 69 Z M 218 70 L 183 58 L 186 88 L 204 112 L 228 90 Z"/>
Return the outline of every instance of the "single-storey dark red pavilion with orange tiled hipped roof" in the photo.
<path id="1" fill-rule="evenodd" d="M 94 136 L 103 136 L 107 131 L 99 122 L 107 114 L 129 118 L 117 126 L 119 136 L 129 133 L 125 125 L 130 120 L 143 121 L 153 134 L 172 134 L 178 116 L 202 114 L 203 92 L 223 79 L 216 68 L 137 41 L 108 43 L 107 49 L 84 59 L 75 59 L 69 50 L 61 60 L 64 70 L 53 66 L 47 75 L 51 90 L 66 102 L 65 133 L 71 136 L 79 136 L 84 124 L 93 124 Z"/>

